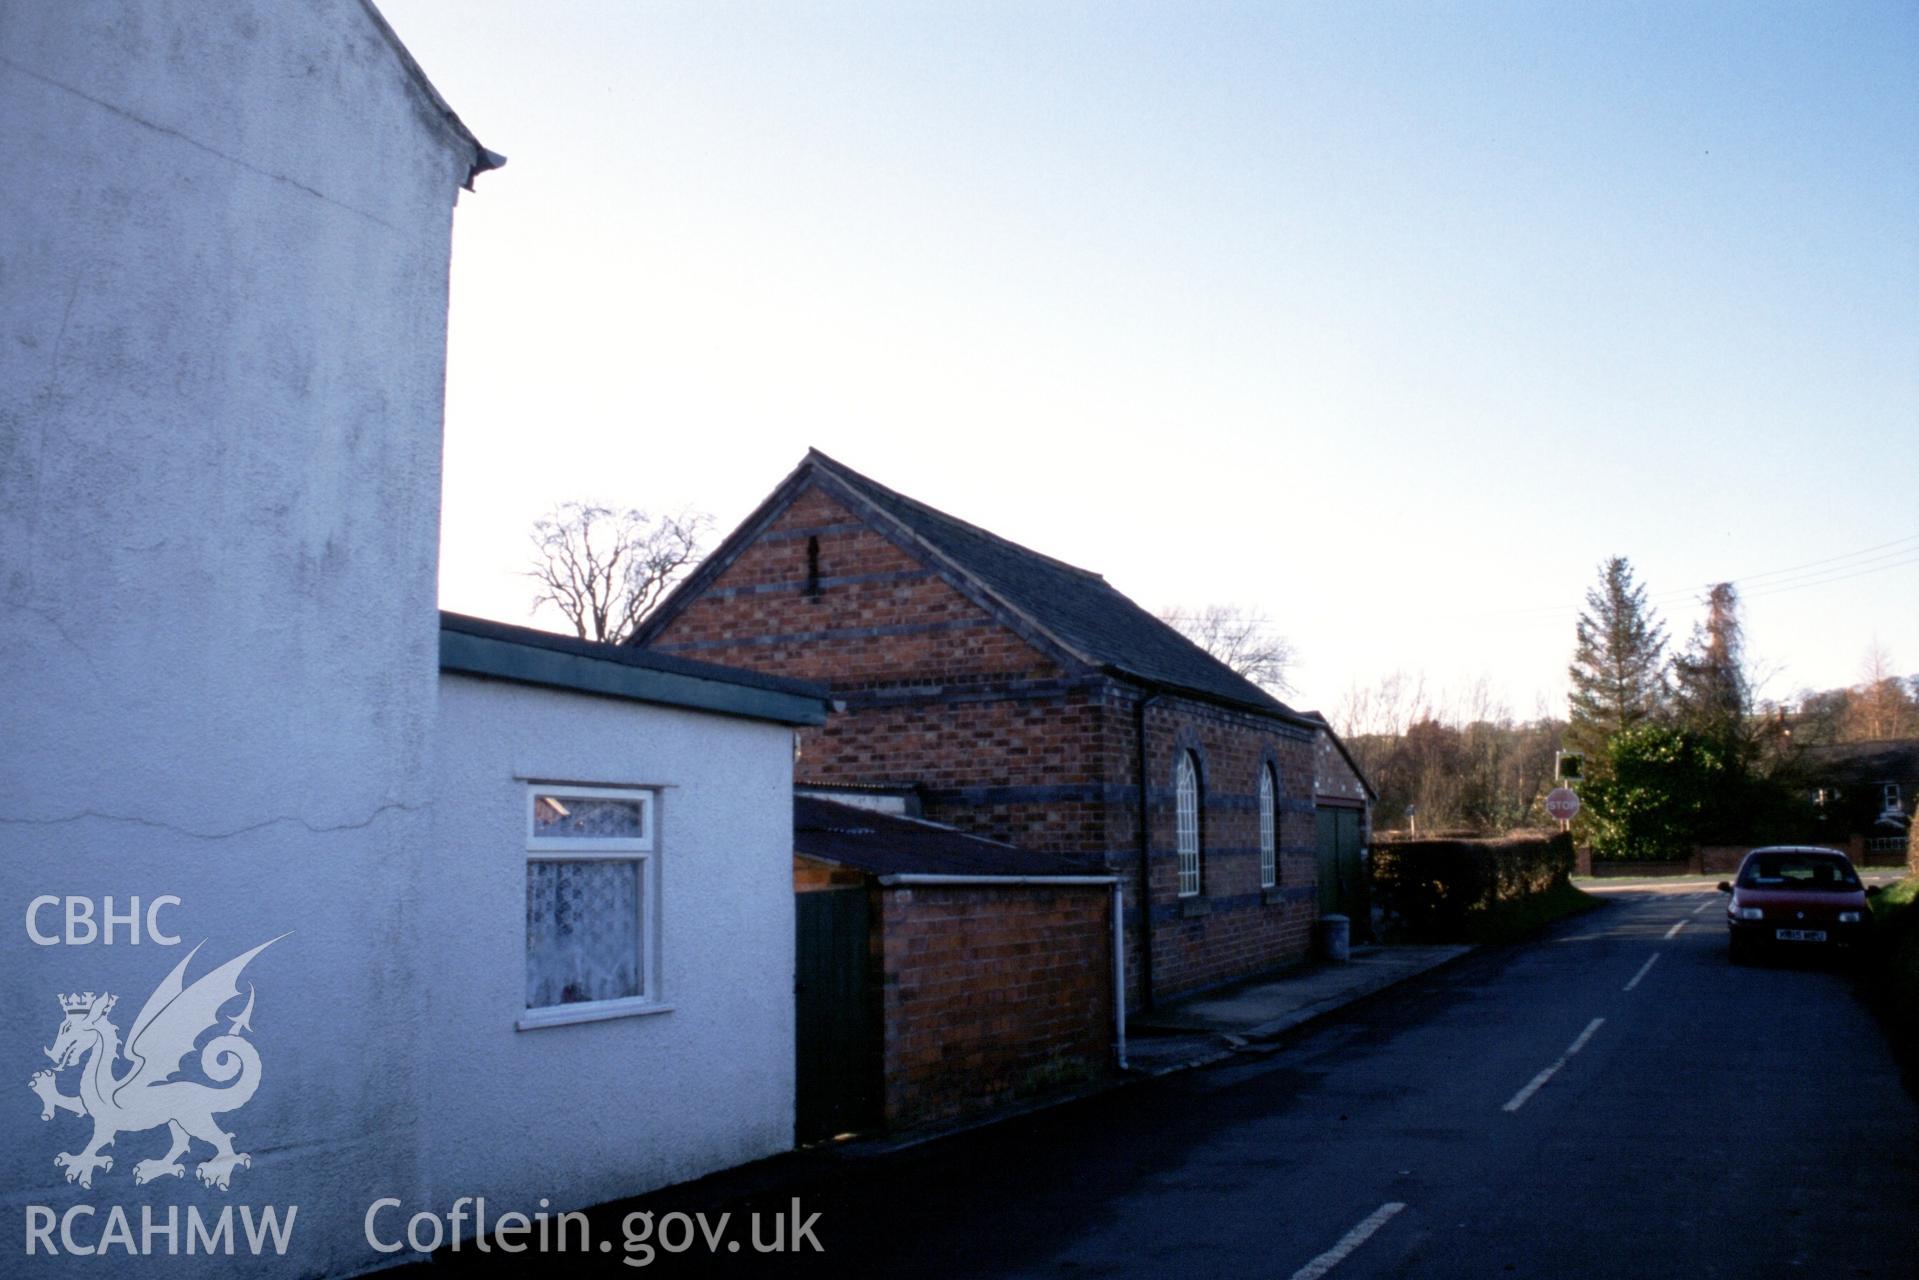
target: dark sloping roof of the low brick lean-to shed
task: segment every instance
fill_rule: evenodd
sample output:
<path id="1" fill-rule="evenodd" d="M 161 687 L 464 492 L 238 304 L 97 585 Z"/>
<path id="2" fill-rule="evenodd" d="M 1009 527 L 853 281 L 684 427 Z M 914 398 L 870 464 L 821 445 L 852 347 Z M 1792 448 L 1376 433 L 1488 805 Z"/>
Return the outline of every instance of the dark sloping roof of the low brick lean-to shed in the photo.
<path id="1" fill-rule="evenodd" d="M 793 852 L 875 875 L 1096 875 L 1057 854 L 1032 854 L 919 818 L 816 796 L 793 798 Z"/>

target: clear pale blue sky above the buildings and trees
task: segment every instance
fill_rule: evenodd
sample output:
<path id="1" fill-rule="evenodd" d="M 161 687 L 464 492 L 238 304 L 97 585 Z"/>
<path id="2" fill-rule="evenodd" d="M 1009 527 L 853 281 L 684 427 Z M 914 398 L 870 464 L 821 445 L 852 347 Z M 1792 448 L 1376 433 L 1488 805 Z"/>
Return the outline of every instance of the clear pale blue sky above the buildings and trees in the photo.
<path id="1" fill-rule="evenodd" d="M 1608 555 L 1681 637 L 1742 580 L 1775 697 L 1919 672 L 1919 6 L 382 12 L 510 157 L 455 217 L 449 608 L 526 620 L 555 501 L 729 528 L 817 445 L 1267 610 L 1328 712 L 1562 710 Z"/>

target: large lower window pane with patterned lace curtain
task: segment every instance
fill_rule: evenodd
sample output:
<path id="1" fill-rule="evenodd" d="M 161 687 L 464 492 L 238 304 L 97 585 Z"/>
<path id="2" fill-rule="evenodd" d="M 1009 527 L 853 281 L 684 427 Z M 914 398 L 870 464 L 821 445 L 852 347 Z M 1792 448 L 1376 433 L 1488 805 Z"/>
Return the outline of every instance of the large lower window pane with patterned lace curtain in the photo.
<path id="1" fill-rule="evenodd" d="M 528 862 L 526 1007 L 639 994 L 639 862 Z"/>

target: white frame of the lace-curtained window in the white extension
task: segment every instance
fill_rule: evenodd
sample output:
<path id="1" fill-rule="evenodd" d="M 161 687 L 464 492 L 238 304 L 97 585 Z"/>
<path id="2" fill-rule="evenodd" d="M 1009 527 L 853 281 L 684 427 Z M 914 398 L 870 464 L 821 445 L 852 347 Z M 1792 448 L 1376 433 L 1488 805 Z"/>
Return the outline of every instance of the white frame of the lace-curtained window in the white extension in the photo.
<path id="1" fill-rule="evenodd" d="M 558 800 L 622 800 L 639 804 L 637 837 L 553 837 L 533 835 L 533 812 L 541 796 Z M 656 850 L 660 794 L 656 787 L 576 787 L 570 783 L 526 783 L 526 864 L 535 862 L 631 862 L 639 869 L 639 994 L 618 1000 L 580 1000 L 574 1004 L 528 1006 L 516 1027 L 564 1027 L 608 1017 L 666 1013 L 660 1002 L 660 862 Z M 522 885 L 524 892 L 524 885 Z M 524 900 L 522 900 L 524 902 Z M 526 952 L 520 954 L 520 984 L 526 986 Z"/>

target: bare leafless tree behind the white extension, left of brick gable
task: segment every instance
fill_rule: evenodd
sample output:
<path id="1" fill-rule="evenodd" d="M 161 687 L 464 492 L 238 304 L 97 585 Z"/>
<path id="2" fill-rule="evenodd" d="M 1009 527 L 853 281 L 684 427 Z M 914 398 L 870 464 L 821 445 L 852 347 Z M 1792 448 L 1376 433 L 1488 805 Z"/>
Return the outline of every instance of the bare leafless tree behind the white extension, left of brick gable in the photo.
<path id="1" fill-rule="evenodd" d="M 712 516 L 560 503 L 533 522 L 533 608 L 553 604 L 580 639 L 620 643 L 700 557 Z"/>

